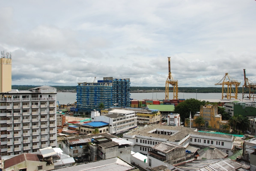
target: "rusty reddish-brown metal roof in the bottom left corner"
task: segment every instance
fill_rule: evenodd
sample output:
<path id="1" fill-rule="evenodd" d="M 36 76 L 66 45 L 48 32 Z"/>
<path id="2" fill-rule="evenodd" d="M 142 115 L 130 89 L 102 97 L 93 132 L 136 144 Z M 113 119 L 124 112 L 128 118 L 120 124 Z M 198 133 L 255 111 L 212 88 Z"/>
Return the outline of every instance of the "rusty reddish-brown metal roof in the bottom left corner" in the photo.
<path id="1" fill-rule="evenodd" d="M 22 153 L 4 161 L 4 168 L 12 167 L 24 161 L 42 162 L 43 156 L 40 154 Z"/>

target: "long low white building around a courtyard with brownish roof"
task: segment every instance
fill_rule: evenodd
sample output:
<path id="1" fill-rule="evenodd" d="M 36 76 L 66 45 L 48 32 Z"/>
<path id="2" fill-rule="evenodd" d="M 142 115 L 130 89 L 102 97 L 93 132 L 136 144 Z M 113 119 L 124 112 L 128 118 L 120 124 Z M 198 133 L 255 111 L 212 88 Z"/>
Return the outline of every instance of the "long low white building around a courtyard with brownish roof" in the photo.
<path id="1" fill-rule="evenodd" d="M 196 128 L 172 127 L 167 125 L 153 124 L 133 132 L 123 134 L 123 139 L 133 142 L 132 151 L 147 154 L 152 146 L 160 142 L 188 147 L 196 145 L 208 147 L 213 144 L 223 152 L 232 155 L 234 137 L 214 133 L 197 132 Z"/>

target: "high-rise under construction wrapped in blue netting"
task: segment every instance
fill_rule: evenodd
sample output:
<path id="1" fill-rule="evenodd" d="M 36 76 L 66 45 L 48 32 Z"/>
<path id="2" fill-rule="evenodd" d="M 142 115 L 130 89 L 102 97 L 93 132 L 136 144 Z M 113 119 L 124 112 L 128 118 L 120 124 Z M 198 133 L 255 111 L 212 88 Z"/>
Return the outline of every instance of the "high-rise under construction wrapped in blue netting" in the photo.
<path id="1" fill-rule="evenodd" d="M 79 113 L 112 106 L 130 107 L 130 79 L 104 77 L 97 83 L 78 83 L 77 109 Z"/>

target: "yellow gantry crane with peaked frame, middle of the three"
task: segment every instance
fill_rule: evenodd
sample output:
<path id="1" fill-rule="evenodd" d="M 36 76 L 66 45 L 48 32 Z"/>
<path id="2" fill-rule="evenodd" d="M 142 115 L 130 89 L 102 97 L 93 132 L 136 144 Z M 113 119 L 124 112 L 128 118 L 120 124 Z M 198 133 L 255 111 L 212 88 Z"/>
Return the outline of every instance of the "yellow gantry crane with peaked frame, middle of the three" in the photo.
<path id="1" fill-rule="evenodd" d="M 222 83 L 220 83 L 223 80 Z M 231 99 L 232 97 L 234 97 L 235 99 L 237 99 L 237 93 L 238 93 L 238 86 L 241 84 L 240 82 L 238 82 L 237 80 L 234 80 L 232 77 L 229 76 L 228 73 L 225 74 L 225 76 L 222 78 L 222 80 L 220 80 L 219 83 L 216 83 L 215 85 L 222 85 L 222 98 L 226 97 L 227 99 Z M 227 85 L 227 88 L 225 87 L 225 85 Z M 232 85 L 235 86 L 235 91 L 234 88 L 232 87 Z M 226 95 L 224 96 L 223 93 L 226 93 Z M 232 96 L 231 93 L 234 93 L 235 96 Z"/>

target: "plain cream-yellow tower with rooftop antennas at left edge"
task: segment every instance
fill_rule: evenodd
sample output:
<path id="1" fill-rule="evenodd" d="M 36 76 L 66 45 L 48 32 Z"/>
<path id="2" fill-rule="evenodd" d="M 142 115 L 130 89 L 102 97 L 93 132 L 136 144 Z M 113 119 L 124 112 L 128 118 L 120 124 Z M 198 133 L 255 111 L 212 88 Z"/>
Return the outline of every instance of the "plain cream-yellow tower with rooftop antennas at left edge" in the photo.
<path id="1" fill-rule="evenodd" d="M 0 92 L 12 90 L 12 56 L 2 52 L 0 65 Z"/>

